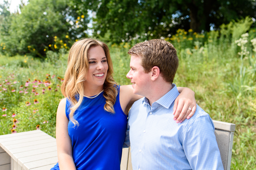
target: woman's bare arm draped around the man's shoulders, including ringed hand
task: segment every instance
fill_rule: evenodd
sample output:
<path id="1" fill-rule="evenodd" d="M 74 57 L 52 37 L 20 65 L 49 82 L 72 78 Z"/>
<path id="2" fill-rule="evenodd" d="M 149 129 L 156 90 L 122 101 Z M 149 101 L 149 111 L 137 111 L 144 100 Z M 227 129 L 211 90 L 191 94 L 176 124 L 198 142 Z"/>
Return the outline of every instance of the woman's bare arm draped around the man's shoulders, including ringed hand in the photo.
<path id="1" fill-rule="evenodd" d="M 189 88 L 178 87 L 180 95 L 176 98 L 173 107 L 174 120 L 181 123 L 186 118 L 191 118 L 196 110 L 195 93 Z M 133 93 L 132 85 L 120 86 L 120 105 L 123 112 L 128 115 L 128 112 L 136 100 L 143 96 Z M 192 109 L 192 111 L 189 110 Z"/>

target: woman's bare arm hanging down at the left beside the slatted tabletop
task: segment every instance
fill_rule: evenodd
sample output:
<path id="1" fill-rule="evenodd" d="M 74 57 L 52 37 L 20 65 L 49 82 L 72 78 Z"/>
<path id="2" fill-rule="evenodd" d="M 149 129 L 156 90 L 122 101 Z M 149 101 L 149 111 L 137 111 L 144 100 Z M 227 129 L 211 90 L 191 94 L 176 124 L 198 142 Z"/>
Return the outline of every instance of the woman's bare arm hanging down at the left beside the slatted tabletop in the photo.
<path id="1" fill-rule="evenodd" d="M 68 119 L 65 113 L 66 100 L 67 98 L 61 100 L 59 103 L 56 117 L 56 142 L 58 160 L 60 170 L 76 170 L 72 155 L 71 139 L 67 131 Z"/>

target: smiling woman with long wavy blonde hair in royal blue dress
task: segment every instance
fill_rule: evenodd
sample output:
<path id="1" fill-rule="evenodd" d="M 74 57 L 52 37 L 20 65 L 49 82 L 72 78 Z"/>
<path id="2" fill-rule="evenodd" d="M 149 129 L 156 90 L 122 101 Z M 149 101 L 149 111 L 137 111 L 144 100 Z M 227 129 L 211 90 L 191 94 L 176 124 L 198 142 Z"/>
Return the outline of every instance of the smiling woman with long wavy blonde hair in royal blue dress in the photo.
<path id="1" fill-rule="evenodd" d="M 52 169 L 120 170 L 128 111 L 142 96 L 133 94 L 131 85 L 118 86 L 112 74 L 113 65 L 105 43 L 83 39 L 70 48 L 61 86 L 66 98 L 57 110 L 59 162 Z M 191 98 L 183 102 L 183 97 L 179 106 L 176 104 L 183 107 L 183 112 L 180 116 L 177 112 L 175 118 L 184 120 L 194 114 L 194 92 L 187 88 L 179 90 L 189 92 Z"/>

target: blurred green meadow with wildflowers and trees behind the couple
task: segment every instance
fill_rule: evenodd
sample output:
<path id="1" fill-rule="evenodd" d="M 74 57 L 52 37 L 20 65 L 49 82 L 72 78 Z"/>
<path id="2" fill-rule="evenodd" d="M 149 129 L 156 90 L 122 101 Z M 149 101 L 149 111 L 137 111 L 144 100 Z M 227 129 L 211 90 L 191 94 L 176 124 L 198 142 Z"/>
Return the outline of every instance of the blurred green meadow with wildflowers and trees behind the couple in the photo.
<path id="1" fill-rule="evenodd" d="M 212 119 L 236 124 L 231 169 L 256 169 L 254 0 L 0 1 L 0 135 L 39 128 L 55 137 L 60 86 L 72 44 L 108 44 L 115 80 L 126 78 L 134 44 L 175 46 L 174 83 L 195 91 Z"/>

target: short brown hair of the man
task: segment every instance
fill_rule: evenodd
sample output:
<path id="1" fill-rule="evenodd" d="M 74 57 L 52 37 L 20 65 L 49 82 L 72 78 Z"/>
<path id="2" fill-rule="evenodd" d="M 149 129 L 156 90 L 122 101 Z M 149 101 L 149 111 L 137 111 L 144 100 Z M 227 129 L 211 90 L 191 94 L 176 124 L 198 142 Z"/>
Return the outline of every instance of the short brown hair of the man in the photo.
<path id="1" fill-rule="evenodd" d="M 141 56 L 140 64 L 145 73 L 149 73 L 152 67 L 157 66 L 164 80 L 173 83 L 179 59 L 171 43 L 160 39 L 148 40 L 133 46 L 128 54 Z"/>

